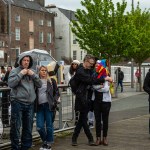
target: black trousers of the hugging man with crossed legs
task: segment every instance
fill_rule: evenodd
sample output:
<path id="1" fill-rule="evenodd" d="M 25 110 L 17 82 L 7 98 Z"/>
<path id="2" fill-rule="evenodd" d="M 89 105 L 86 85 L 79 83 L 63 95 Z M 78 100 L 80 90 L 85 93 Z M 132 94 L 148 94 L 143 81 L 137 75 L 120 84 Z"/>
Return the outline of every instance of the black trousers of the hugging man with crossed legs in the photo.
<path id="1" fill-rule="evenodd" d="M 85 132 L 88 140 L 93 141 L 92 133 L 90 132 L 89 126 L 87 124 L 87 120 L 88 120 L 87 115 L 88 115 L 88 111 L 79 112 L 79 119 L 76 123 L 76 127 L 74 129 L 74 133 L 73 133 L 73 136 L 72 136 L 73 141 L 77 140 L 82 127 L 84 129 L 84 132 Z"/>

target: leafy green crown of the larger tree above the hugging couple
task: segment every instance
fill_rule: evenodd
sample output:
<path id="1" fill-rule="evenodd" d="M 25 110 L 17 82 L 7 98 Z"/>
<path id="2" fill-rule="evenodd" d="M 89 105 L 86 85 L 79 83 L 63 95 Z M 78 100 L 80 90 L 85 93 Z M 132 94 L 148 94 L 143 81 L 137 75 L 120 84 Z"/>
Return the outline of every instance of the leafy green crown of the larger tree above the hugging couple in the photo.
<path id="1" fill-rule="evenodd" d="M 77 36 L 80 47 L 97 57 L 118 61 L 126 48 L 125 8 L 127 3 L 112 0 L 83 0 L 85 10 L 77 9 L 78 21 L 72 21 L 72 32 Z"/>

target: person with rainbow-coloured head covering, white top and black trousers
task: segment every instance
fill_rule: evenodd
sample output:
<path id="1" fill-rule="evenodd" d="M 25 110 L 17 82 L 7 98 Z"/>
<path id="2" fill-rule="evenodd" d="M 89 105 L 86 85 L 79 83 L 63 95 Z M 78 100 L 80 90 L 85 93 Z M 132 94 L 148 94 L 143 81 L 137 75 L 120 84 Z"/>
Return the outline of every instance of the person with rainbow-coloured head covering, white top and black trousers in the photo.
<path id="1" fill-rule="evenodd" d="M 109 75 L 106 68 L 101 64 L 101 60 L 98 60 L 95 65 L 95 78 L 103 79 Z M 109 82 L 105 81 L 100 85 L 93 85 L 92 100 L 94 100 L 94 114 L 96 120 L 96 145 L 103 144 L 108 145 L 107 132 L 108 132 L 108 120 L 109 112 L 111 108 L 111 94 L 109 90 Z M 103 122 L 103 130 L 102 130 Z M 103 132 L 103 133 L 101 133 Z"/>

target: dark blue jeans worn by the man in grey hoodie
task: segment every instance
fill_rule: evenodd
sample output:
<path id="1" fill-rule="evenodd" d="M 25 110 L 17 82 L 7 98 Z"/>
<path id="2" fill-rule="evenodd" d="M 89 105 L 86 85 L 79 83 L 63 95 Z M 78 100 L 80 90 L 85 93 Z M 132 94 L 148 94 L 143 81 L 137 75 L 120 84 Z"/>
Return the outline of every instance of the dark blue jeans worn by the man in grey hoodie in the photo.
<path id="1" fill-rule="evenodd" d="M 32 127 L 34 104 L 11 102 L 11 150 L 28 150 L 32 146 Z M 20 127 L 22 125 L 21 147 L 19 147 Z"/>

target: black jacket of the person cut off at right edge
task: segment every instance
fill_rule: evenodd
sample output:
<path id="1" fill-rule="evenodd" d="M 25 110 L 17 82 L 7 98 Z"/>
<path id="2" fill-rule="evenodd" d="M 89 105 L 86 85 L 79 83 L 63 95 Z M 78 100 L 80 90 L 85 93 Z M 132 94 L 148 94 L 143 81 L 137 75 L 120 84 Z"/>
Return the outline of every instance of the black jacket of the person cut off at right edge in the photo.
<path id="1" fill-rule="evenodd" d="M 143 89 L 145 92 L 149 94 L 149 101 L 150 101 L 150 72 L 146 74 L 144 79 Z"/>

